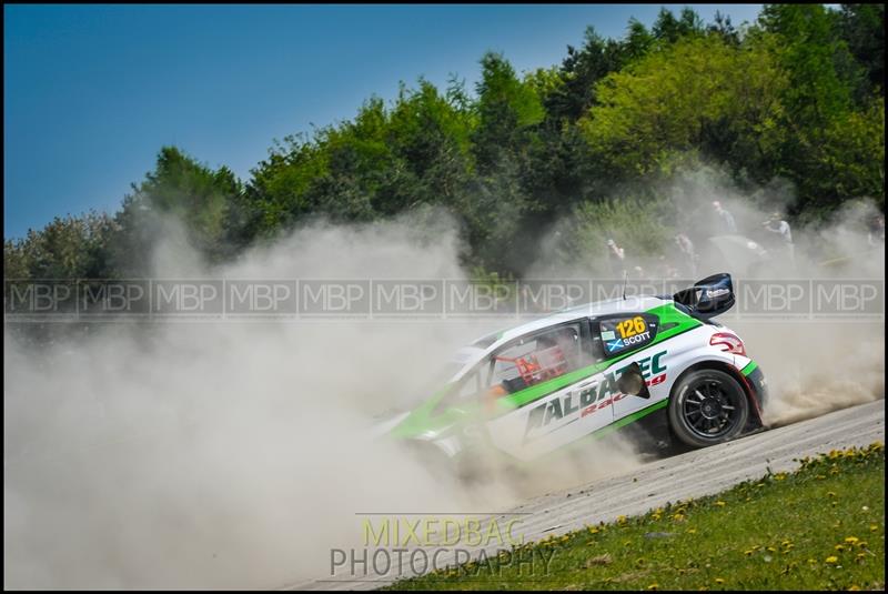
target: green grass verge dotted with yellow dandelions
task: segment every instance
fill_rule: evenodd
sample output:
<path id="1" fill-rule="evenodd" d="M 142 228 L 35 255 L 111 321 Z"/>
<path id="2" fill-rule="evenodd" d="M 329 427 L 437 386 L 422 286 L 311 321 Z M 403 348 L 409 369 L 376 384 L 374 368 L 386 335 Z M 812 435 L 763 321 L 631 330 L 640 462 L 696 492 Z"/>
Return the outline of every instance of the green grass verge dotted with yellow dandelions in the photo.
<path id="1" fill-rule="evenodd" d="M 885 446 L 527 543 L 386 590 L 884 590 Z"/>

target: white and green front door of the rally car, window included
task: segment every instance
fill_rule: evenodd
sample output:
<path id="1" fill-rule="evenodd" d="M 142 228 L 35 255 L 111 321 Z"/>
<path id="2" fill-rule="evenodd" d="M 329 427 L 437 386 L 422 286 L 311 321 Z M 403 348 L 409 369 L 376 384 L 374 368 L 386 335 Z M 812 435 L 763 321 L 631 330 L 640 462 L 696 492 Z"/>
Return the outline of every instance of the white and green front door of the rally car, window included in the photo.
<path id="1" fill-rule="evenodd" d="M 609 424 L 610 405 L 602 402 L 612 386 L 603 384 L 599 366 L 587 319 L 497 349 L 490 358 L 486 382 L 497 399 L 486 423 L 491 442 L 507 454 L 532 460 Z"/>

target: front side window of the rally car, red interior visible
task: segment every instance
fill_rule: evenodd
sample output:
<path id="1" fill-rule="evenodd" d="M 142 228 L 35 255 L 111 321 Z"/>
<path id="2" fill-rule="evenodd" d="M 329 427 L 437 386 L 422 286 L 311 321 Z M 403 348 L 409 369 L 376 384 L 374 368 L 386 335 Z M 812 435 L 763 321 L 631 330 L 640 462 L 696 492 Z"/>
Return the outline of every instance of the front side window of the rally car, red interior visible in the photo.
<path id="1" fill-rule="evenodd" d="M 581 322 L 514 341 L 491 359 L 490 390 L 503 395 L 552 380 L 591 363 Z"/>

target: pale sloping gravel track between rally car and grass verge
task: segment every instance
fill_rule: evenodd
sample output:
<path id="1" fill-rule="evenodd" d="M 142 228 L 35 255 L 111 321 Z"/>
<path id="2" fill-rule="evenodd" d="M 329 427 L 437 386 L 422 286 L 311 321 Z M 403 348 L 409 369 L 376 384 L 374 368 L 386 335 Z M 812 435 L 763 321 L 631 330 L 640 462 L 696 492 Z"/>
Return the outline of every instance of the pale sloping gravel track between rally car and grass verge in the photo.
<path id="1" fill-rule="evenodd" d="M 587 524 L 637 515 L 667 502 L 712 495 L 750 479 L 790 471 L 797 459 L 834 449 L 885 441 L 885 400 L 834 411 L 817 419 L 764 431 L 740 440 L 668 459 L 655 460 L 625 474 L 548 493 L 497 516 L 522 514 L 519 532 L 527 541 L 559 535 Z M 465 547 L 472 548 L 472 547 Z M 491 552 L 496 546 L 475 547 Z M 446 556 L 442 556 L 442 560 Z M 392 573 L 331 582 L 330 577 L 291 584 L 286 590 L 367 590 L 390 583 Z"/>

